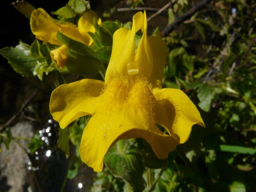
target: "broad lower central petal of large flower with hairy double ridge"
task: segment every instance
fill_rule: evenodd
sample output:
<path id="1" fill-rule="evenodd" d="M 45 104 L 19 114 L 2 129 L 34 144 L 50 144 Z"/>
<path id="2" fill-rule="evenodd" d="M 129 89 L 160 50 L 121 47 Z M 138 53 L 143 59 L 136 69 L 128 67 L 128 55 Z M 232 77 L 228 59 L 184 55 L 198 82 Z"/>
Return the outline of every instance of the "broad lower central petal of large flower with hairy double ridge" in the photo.
<path id="1" fill-rule="evenodd" d="M 155 125 L 153 94 L 144 80 L 130 86 L 127 78 L 112 79 L 98 110 L 86 125 L 79 153 L 81 159 L 96 172 L 103 167 L 108 149 L 120 139 L 143 138 L 158 158 L 167 158 L 178 141 L 159 131 Z"/>

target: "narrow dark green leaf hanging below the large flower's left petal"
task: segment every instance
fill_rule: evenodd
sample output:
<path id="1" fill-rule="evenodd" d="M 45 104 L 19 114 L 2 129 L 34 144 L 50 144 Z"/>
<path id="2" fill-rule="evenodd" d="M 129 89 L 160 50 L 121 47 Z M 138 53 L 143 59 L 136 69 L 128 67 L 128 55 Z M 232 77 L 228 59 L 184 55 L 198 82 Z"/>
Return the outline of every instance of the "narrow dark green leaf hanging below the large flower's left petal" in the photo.
<path id="1" fill-rule="evenodd" d="M 69 156 L 68 128 L 59 129 L 59 138 L 57 141 L 57 147 L 60 148 Z"/>

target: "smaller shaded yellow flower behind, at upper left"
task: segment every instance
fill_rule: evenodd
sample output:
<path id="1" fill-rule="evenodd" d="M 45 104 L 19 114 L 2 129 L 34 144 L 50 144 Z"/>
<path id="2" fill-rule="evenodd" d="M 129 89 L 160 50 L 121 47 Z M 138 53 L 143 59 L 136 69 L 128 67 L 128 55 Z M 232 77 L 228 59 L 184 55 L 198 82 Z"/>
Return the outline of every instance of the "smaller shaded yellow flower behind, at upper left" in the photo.
<path id="1" fill-rule="evenodd" d="M 95 32 L 92 23 L 94 17 L 98 20 L 98 24 L 101 24 L 101 20 L 92 10 L 84 12 L 82 17 L 78 20 L 78 26 L 68 22 L 61 24 L 54 22 L 44 9 L 39 8 L 34 10 L 31 14 L 30 27 L 36 38 L 46 43 L 62 45 L 57 38 L 57 32 L 59 31 L 71 39 L 82 42 L 87 46 L 91 46 L 93 40 L 87 32 Z M 53 50 L 50 55 L 57 67 L 64 68 L 68 59 L 67 47 L 65 45 Z"/>

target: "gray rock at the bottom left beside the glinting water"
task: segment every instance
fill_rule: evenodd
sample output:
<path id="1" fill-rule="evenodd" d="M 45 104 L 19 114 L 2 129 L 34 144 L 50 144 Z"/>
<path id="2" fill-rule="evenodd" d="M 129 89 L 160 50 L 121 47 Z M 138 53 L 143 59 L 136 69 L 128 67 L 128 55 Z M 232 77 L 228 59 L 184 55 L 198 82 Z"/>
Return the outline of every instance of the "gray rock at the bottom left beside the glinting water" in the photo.
<path id="1" fill-rule="evenodd" d="M 32 138 L 34 133 L 33 126 L 29 122 L 19 122 L 10 130 L 12 137 Z M 28 179 L 25 162 L 25 159 L 28 159 L 25 152 L 28 150 L 27 143 L 28 141 L 15 139 L 10 142 L 9 149 L 3 143 L 0 146 L 2 149 L 0 153 L 0 182 L 5 182 L 9 192 L 22 192 L 23 185 Z"/>

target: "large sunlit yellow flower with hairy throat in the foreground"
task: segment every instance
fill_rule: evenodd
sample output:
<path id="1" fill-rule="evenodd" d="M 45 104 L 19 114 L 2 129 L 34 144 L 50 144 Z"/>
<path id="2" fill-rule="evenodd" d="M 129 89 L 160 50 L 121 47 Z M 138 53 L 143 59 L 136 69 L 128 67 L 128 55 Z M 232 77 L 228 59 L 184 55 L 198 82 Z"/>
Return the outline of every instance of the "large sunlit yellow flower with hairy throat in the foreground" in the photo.
<path id="1" fill-rule="evenodd" d="M 135 33 L 143 36 L 135 53 Z M 147 36 L 146 13 L 133 16 L 132 30 L 118 29 L 105 82 L 83 79 L 52 92 L 50 112 L 65 128 L 76 118 L 92 115 L 84 128 L 79 153 L 96 172 L 118 140 L 143 138 L 158 158 L 188 140 L 193 124 L 204 126 L 196 106 L 178 89 L 161 89 L 167 47 Z M 164 126 L 169 135 L 155 124 Z"/>

